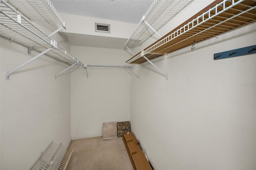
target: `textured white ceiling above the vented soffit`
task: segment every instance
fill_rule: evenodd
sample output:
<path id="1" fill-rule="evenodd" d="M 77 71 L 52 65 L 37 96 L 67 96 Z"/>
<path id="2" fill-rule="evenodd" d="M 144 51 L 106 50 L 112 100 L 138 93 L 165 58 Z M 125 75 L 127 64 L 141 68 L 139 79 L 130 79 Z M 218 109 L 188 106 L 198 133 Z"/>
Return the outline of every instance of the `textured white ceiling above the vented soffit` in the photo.
<path id="1" fill-rule="evenodd" d="M 60 13 L 138 24 L 154 0 L 51 0 Z"/>

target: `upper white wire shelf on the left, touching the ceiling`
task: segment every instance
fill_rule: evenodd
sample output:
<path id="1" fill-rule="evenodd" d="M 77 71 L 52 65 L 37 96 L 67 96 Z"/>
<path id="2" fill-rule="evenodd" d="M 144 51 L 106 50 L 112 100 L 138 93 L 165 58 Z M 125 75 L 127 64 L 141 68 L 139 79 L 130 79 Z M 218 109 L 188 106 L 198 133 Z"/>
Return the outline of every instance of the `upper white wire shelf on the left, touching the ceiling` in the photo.
<path id="1" fill-rule="evenodd" d="M 65 27 L 62 20 L 50 0 L 8 0 L 17 10 L 30 21 L 46 22 L 48 24 L 59 24 Z"/>

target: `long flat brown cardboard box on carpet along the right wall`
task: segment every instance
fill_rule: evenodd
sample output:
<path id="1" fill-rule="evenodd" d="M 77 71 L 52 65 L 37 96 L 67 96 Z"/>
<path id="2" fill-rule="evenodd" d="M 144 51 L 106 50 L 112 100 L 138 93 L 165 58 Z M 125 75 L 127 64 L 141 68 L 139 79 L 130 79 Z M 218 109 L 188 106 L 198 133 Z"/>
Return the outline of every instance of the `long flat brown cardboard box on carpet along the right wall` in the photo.
<path id="1" fill-rule="evenodd" d="M 123 141 L 134 170 L 152 170 L 146 156 L 140 149 L 139 144 L 132 132 L 124 133 Z"/>

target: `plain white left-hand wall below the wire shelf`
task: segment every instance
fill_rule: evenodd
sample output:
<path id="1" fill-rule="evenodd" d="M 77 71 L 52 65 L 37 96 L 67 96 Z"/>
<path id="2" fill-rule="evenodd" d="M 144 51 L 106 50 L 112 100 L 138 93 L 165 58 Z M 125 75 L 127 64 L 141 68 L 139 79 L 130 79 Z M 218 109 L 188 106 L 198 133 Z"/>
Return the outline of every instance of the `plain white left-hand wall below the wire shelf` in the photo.
<path id="1" fill-rule="evenodd" d="M 0 41 L 0 169 L 30 169 L 51 141 L 65 147 L 70 142 L 70 74 L 54 77 L 68 65 L 43 55 L 6 80 L 8 71 L 38 53 L 28 54 L 26 47 L 5 38 Z"/>

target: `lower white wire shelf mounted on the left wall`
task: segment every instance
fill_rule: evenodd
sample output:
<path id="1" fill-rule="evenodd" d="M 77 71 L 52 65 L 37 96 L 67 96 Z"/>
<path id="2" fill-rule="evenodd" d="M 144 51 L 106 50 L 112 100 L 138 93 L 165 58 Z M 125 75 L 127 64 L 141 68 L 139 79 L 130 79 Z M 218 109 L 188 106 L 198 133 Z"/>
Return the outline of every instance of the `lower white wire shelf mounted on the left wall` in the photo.
<path id="1" fill-rule="evenodd" d="M 12 4 L 9 4 L 12 2 Z M 19 2 L 19 3 L 18 3 Z M 10 0 L 6 3 L 4 0 L 0 2 L 0 35 L 4 36 L 10 40 L 18 42 L 28 48 L 32 48 L 35 51 L 43 52 L 46 49 L 54 47 L 52 50 L 48 51 L 46 55 L 68 65 L 72 65 L 74 63 L 80 63 L 83 65 L 78 59 L 72 56 L 66 49 L 64 49 L 60 44 L 55 42 L 52 38 L 46 35 L 40 28 L 35 26 L 26 16 L 16 10 L 26 10 L 23 9 L 25 5 L 15 6 L 12 5 L 20 5 L 24 2 L 24 4 L 30 2 L 31 4 L 35 4 L 36 2 L 47 2 L 50 3 L 48 0 L 33 0 L 33 1 L 21 1 L 21 0 Z M 50 5 L 52 6 L 52 5 Z M 50 6 L 45 6 L 45 8 L 50 8 Z M 52 8 L 50 8 L 52 10 Z M 46 10 L 47 12 L 47 10 Z M 33 15 L 36 18 L 35 14 Z M 49 14 L 50 15 L 50 14 Z M 54 14 L 55 15 L 55 14 Z M 46 17 L 45 17 L 46 18 Z M 48 16 L 50 18 L 50 16 Z M 54 16 L 57 18 L 57 16 Z M 40 17 L 38 18 L 40 20 Z M 49 20 L 48 20 L 49 21 Z M 64 23 L 64 22 L 63 22 Z"/>

